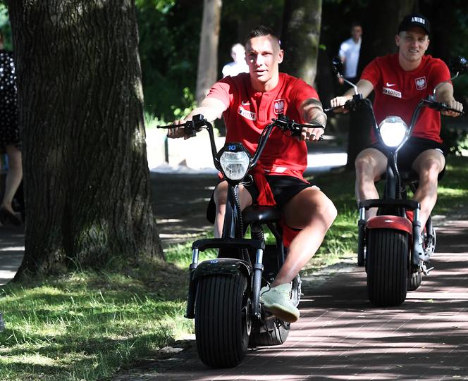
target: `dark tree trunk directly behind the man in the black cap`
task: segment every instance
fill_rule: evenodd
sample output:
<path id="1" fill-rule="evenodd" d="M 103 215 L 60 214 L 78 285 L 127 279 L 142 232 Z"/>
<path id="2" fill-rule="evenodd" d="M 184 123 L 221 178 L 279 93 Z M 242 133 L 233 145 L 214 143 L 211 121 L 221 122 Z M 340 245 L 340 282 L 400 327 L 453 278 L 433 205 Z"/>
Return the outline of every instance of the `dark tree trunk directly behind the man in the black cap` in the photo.
<path id="1" fill-rule="evenodd" d="M 364 67 L 377 56 L 395 53 L 395 35 L 398 25 L 407 13 L 411 13 L 414 0 L 373 0 L 367 18 L 362 25 L 362 46 L 359 52 L 358 77 Z M 347 141 L 347 170 L 354 170 L 357 154 L 369 145 L 370 119 L 364 113 L 350 115 L 350 131 Z"/>

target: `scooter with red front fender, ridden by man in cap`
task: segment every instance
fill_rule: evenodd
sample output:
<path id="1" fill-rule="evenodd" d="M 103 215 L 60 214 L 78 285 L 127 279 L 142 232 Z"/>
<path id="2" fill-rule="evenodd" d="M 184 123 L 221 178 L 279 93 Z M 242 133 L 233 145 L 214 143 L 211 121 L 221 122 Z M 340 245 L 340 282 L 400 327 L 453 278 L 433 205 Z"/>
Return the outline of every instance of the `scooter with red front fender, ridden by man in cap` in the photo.
<path id="1" fill-rule="evenodd" d="M 458 57 L 452 61 L 450 68 L 456 73 L 450 79 L 453 80 L 468 70 L 467 60 Z M 338 57 L 333 58 L 333 71 L 345 80 L 343 63 Z M 410 126 L 398 116 L 388 116 L 377 125 L 371 101 L 358 94 L 357 87 L 352 82 L 345 82 L 354 87 L 355 95 L 344 107 L 352 112 L 360 110 L 369 113 L 371 127 L 387 151 L 382 198 L 359 202 L 357 265 L 366 268 L 367 291 L 371 303 L 376 306 L 398 306 L 405 301 L 407 291 L 414 291 L 421 285 L 422 275 L 428 275 L 432 270 L 427 266 L 436 248 L 436 232 L 431 216 L 421 232 L 420 205 L 417 201 L 407 199 L 407 189 L 416 192 L 417 173 L 398 169 L 398 151 L 411 136 L 421 108 L 458 111 L 436 101 L 436 87 L 433 94 L 428 99 L 422 99 L 414 109 Z M 443 84 L 438 86 L 441 85 Z M 326 111 L 340 107 L 342 106 L 328 108 Z M 369 208 L 378 208 L 377 216 L 366 219 L 365 211 Z M 408 211 L 414 213 L 412 219 L 408 217 Z M 421 234 L 424 239 L 424 253 L 419 253 L 419 240 L 414 239 Z"/>

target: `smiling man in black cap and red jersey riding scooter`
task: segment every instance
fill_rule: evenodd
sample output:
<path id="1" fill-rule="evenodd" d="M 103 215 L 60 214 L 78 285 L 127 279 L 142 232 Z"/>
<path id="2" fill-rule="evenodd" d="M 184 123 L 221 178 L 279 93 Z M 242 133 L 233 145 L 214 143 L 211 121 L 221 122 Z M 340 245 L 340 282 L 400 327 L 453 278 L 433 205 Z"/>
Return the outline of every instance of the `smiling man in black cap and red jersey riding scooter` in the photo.
<path id="1" fill-rule="evenodd" d="M 359 93 L 364 97 L 374 91 L 374 113 L 377 123 L 388 115 L 398 115 L 407 125 L 411 123 L 412 112 L 421 99 L 433 93 L 436 85 L 450 80 L 447 65 L 438 58 L 425 56 L 429 46 L 430 25 L 423 15 L 406 15 L 398 26 L 395 43 L 398 53 L 374 59 L 362 72 L 357 82 Z M 331 100 L 331 106 L 341 106 L 352 98 L 350 89 L 343 96 Z M 455 101 L 451 83 L 438 87 L 436 100 L 450 108 L 462 111 L 462 104 Z M 454 111 L 443 114 L 458 116 Z M 412 136 L 398 153 L 398 167 L 401 170 L 415 170 L 419 174 L 419 188 L 414 199 L 421 204 L 421 226 L 436 205 L 438 175 L 445 168 L 441 133 L 441 116 L 431 108 L 422 108 Z M 378 199 L 374 180 L 386 170 L 387 158 L 381 144 L 376 143 L 372 131 L 371 146 L 357 156 L 356 196 L 357 200 Z M 375 216 L 376 210 L 369 211 L 368 217 Z"/>

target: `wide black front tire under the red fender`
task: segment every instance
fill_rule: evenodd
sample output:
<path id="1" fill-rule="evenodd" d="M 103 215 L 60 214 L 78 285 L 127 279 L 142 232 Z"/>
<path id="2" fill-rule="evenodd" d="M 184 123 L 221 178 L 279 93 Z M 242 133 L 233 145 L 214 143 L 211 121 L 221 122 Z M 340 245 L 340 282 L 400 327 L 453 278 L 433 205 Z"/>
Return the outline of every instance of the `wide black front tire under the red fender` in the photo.
<path id="1" fill-rule="evenodd" d="M 367 232 L 367 293 L 374 306 L 400 306 L 406 299 L 409 235 L 390 229 Z"/>

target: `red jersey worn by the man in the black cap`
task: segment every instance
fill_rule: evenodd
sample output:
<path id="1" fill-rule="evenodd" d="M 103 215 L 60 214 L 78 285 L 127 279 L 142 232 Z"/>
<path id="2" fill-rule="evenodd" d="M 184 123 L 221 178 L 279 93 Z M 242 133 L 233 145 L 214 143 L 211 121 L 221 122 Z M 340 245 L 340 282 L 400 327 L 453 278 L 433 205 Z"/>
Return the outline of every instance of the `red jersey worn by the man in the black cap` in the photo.
<path id="1" fill-rule="evenodd" d="M 443 61 L 429 55 L 422 57 L 417 69 L 405 71 L 398 62 L 397 53 L 374 59 L 364 68 L 361 79 L 374 85 L 377 123 L 387 116 L 396 115 L 410 125 L 419 101 L 431 95 L 436 85 L 450 80 L 450 71 Z M 440 135 L 441 114 L 429 107 L 421 108 L 412 136 L 441 143 Z M 372 140 L 375 142 L 374 130 Z"/>

